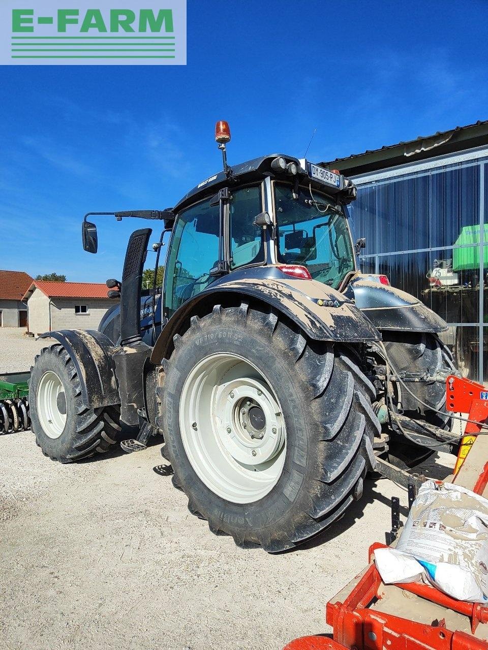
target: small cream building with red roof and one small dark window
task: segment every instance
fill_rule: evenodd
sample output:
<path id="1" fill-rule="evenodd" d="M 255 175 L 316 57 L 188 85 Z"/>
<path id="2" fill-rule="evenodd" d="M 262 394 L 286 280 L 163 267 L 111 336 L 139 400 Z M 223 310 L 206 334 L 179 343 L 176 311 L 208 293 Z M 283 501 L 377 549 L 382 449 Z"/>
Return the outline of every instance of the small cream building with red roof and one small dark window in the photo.
<path id="1" fill-rule="evenodd" d="M 115 304 L 104 284 L 31 281 L 27 303 L 29 331 L 96 330 L 103 314 Z"/>

